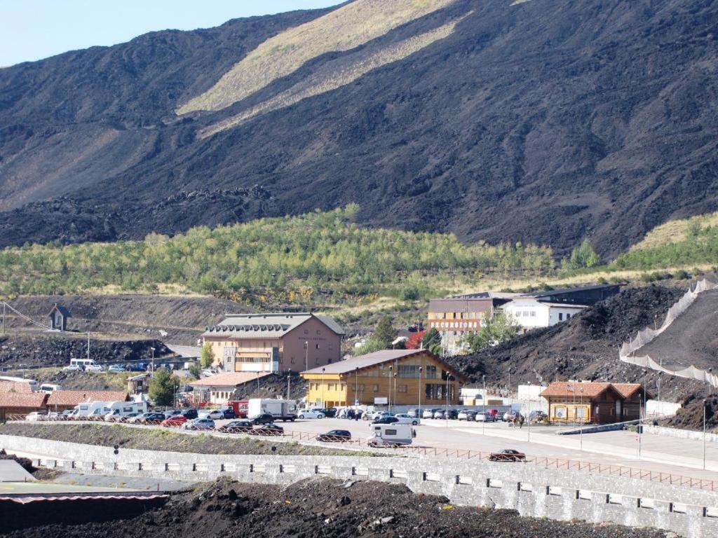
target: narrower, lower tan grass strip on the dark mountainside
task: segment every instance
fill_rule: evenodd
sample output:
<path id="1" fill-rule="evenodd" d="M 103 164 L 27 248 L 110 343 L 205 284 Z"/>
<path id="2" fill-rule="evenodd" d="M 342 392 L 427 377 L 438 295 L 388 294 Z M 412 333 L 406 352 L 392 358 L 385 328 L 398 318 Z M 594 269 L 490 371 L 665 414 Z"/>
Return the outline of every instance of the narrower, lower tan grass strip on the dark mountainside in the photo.
<path id="1" fill-rule="evenodd" d="M 439 39 L 448 37 L 449 34 L 454 32 L 454 28 L 460 20 L 461 19 L 457 19 L 449 22 L 430 32 L 419 34 L 402 42 L 392 44 L 389 47 L 379 49 L 376 52 L 360 51 L 349 59 L 341 58 L 338 61 L 330 62 L 325 69 L 314 73 L 314 75 L 299 82 L 299 84 L 294 85 L 292 88 L 289 88 L 289 90 L 275 95 L 260 105 L 244 110 L 242 113 L 200 131 L 200 137 L 206 138 L 212 136 L 225 129 L 238 126 L 244 121 L 253 118 L 255 115 L 291 106 L 294 105 L 294 103 L 299 103 L 302 99 L 330 92 L 341 86 L 348 85 L 371 70 L 375 70 L 391 62 L 403 60 L 409 55 L 414 54 L 414 52 L 439 41 Z"/>

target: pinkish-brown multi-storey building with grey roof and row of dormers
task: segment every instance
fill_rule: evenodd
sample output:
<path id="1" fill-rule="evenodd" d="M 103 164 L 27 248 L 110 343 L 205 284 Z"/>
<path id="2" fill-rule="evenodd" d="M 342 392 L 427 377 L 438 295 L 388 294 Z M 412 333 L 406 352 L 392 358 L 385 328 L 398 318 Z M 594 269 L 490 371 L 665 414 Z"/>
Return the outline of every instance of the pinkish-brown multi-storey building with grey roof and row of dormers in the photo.
<path id="1" fill-rule="evenodd" d="M 202 340 L 225 372 L 299 372 L 340 360 L 342 336 L 327 316 L 266 313 L 228 316 Z"/>

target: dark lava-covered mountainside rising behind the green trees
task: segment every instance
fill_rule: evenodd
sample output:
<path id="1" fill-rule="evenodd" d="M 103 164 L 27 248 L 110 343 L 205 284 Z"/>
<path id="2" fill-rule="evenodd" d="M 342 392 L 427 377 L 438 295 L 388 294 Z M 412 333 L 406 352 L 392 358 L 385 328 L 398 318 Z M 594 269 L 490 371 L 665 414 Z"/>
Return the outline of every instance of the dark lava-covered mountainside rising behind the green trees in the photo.
<path id="1" fill-rule="evenodd" d="M 432 5 L 353 48 L 300 55 L 206 107 L 217 110 L 182 106 L 331 11 L 0 70 L 0 246 L 358 202 L 368 225 L 559 252 L 590 237 L 615 255 L 666 220 L 718 209 L 713 2 L 406 4 Z M 376 57 L 388 60 L 353 78 Z"/>

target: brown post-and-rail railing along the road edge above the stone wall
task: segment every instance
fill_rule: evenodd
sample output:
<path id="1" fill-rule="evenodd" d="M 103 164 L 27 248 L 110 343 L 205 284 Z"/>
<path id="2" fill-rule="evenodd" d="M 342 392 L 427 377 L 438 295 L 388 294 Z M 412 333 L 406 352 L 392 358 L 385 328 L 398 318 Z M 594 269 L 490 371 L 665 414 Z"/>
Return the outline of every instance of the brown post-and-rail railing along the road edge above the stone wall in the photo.
<path id="1" fill-rule="evenodd" d="M 102 419 L 87 420 L 88 417 L 80 417 L 76 420 L 39 420 L 39 423 L 83 423 L 83 422 L 104 422 Z M 26 422 L 25 415 L 8 415 L 8 421 Z M 111 423 L 106 423 L 111 424 Z M 145 423 L 132 423 L 134 426 L 152 426 L 159 425 L 160 421 L 150 421 Z M 341 435 L 326 435 L 309 432 L 286 432 L 284 430 L 275 430 L 274 428 L 218 428 L 216 430 L 200 430 L 208 433 L 227 433 L 236 435 L 254 435 L 258 437 L 282 438 L 283 440 L 297 440 L 299 442 L 314 441 L 317 443 L 342 443 L 342 446 L 350 446 L 356 448 L 364 448 L 368 450 L 376 450 L 362 438 L 346 438 Z M 462 450 L 459 448 L 435 448 L 416 445 L 392 445 L 389 447 L 376 450 L 379 453 L 390 453 L 398 456 L 424 456 L 434 458 L 460 458 L 466 460 L 487 460 L 495 461 L 492 458 L 492 452 L 482 450 Z M 683 476 L 673 473 L 662 473 L 659 471 L 649 471 L 647 469 L 626 467 L 620 465 L 607 465 L 604 463 L 592 463 L 579 460 L 566 460 L 561 458 L 546 458 L 541 456 L 526 456 L 521 462 L 526 465 L 538 466 L 541 468 L 551 469 L 573 469 L 575 471 L 586 471 L 589 473 L 598 473 L 606 476 L 620 476 L 624 478 L 638 478 L 651 482 L 668 483 L 675 486 L 684 486 L 689 488 L 718 491 L 718 481 L 704 480 L 702 478 L 693 478 L 691 476 Z"/>

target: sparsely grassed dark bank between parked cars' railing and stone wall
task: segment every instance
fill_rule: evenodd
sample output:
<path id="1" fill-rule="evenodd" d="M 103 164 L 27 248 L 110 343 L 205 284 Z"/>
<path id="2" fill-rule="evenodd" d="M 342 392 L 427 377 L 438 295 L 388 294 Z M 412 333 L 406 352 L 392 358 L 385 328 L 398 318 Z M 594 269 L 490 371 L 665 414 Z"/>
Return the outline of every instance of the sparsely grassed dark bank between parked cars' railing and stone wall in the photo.
<path id="1" fill-rule="evenodd" d="M 127 428 L 101 424 L 4 424 L 0 435 L 23 435 L 40 439 L 85 443 L 88 445 L 137 448 L 139 450 L 172 450 L 200 454 L 277 454 L 279 456 L 374 456 L 358 450 L 340 450 L 299 443 L 272 443 L 247 438 L 184 435 L 172 430 Z M 276 448 L 272 452 L 272 448 Z"/>

